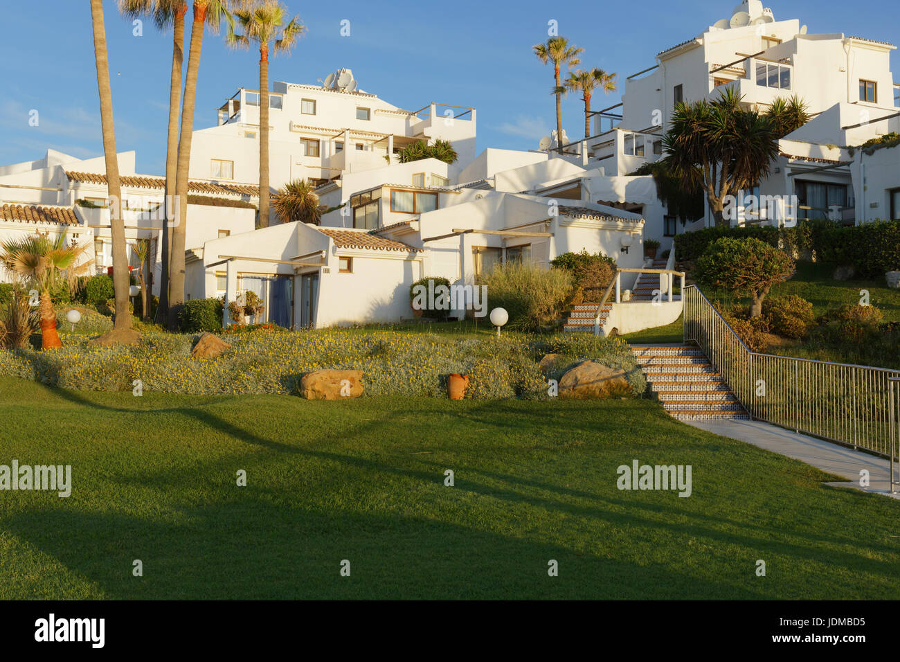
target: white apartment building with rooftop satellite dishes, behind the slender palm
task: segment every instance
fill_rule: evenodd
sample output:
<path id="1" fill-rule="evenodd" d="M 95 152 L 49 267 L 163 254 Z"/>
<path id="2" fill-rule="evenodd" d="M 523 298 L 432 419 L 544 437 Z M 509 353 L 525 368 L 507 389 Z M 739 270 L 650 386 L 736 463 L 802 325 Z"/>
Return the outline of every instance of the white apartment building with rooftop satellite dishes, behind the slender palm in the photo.
<path id="1" fill-rule="evenodd" d="M 274 189 L 294 179 L 326 184 L 396 163 L 417 141 L 453 143 L 458 163 L 475 158 L 475 109 L 429 103 L 403 110 L 358 89 L 349 69 L 329 86 L 275 82 L 269 92 L 269 168 Z M 259 178 L 259 91 L 240 88 L 219 108 L 219 125 L 194 131 L 190 175 L 227 183 Z M 437 177 L 429 185 L 446 185 Z M 423 186 L 424 186 L 423 182 Z"/>

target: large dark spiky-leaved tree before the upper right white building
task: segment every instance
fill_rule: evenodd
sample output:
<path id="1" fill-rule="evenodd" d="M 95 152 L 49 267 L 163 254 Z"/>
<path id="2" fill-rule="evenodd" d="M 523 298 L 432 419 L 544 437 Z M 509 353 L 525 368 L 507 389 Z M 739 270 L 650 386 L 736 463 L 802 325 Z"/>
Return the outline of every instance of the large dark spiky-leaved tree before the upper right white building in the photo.
<path id="1" fill-rule="evenodd" d="M 677 104 L 662 145 L 686 187 L 702 186 L 716 225 L 726 225 L 725 198 L 768 177 L 779 155 L 774 125 L 744 110 L 731 86 L 713 100 Z"/>

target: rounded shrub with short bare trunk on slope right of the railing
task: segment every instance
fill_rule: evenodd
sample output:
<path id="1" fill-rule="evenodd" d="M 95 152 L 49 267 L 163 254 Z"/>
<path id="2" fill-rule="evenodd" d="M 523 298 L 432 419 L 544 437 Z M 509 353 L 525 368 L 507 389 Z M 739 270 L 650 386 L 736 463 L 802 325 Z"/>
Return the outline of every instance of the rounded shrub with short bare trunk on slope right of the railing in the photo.
<path id="1" fill-rule="evenodd" d="M 761 240 L 723 237 L 697 260 L 694 277 L 701 285 L 749 295 L 750 314 L 759 317 L 771 286 L 787 280 L 794 268 L 793 258 Z"/>

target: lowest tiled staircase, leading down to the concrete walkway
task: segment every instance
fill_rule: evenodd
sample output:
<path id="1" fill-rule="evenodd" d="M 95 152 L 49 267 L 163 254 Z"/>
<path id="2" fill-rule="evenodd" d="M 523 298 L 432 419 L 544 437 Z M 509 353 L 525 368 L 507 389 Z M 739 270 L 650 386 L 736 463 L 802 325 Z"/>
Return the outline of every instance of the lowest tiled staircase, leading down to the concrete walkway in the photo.
<path id="1" fill-rule="evenodd" d="M 747 420 L 750 416 L 703 352 L 688 345 L 633 345 L 651 390 L 680 421 Z"/>

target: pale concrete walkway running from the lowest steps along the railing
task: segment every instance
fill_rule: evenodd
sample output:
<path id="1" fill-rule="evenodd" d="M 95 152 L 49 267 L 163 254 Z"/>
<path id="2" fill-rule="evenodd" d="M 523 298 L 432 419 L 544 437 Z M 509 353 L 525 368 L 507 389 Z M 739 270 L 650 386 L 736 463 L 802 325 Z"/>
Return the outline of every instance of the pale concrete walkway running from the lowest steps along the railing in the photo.
<path id="1" fill-rule="evenodd" d="M 695 428 L 700 428 L 713 434 L 746 441 L 761 449 L 771 450 L 773 453 L 798 459 L 829 474 L 844 476 L 850 481 L 848 483 L 826 483 L 826 485 L 853 487 L 862 492 L 885 494 L 893 496 L 895 499 L 900 499 L 900 494 L 890 494 L 889 464 L 887 459 L 876 458 L 874 455 L 869 455 L 869 453 L 847 449 L 828 441 L 808 437 L 805 434 L 797 434 L 761 421 L 685 422 L 693 425 Z M 869 471 L 868 487 L 860 485 L 860 471 L 863 469 Z"/>

